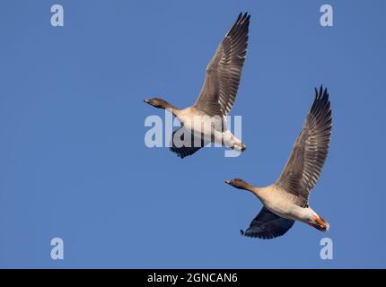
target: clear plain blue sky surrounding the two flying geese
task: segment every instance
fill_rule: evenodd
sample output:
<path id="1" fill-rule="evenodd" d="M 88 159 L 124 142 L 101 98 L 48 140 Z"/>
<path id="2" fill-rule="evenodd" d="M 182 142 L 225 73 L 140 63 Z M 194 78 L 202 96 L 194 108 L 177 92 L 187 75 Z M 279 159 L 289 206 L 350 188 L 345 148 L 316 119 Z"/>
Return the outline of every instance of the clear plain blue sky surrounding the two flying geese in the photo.
<path id="1" fill-rule="evenodd" d="M 163 113 L 143 99 L 194 103 L 241 11 L 250 45 L 232 115 L 247 151 L 146 148 L 145 117 Z M 386 267 L 385 13 L 383 1 L 1 1 L 0 267 Z M 321 83 L 334 126 L 311 206 L 331 229 L 241 237 L 261 204 L 224 179 L 274 182 Z M 55 237 L 64 260 L 50 258 Z"/>

